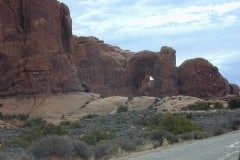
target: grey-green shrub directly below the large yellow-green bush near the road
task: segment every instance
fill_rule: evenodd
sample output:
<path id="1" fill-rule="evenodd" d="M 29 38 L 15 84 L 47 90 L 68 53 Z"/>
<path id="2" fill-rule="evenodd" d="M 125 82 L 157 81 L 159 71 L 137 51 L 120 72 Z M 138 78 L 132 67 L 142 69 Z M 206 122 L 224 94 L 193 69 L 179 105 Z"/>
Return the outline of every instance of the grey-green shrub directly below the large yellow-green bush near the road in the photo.
<path id="1" fill-rule="evenodd" d="M 164 131 L 162 129 L 154 129 L 154 130 L 148 131 L 147 137 L 152 141 L 159 141 L 160 144 L 163 143 L 164 139 L 167 139 L 168 143 L 171 143 L 171 144 L 176 143 L 178 141 L 178 138 L 174 134 L 168 131 Z"/>

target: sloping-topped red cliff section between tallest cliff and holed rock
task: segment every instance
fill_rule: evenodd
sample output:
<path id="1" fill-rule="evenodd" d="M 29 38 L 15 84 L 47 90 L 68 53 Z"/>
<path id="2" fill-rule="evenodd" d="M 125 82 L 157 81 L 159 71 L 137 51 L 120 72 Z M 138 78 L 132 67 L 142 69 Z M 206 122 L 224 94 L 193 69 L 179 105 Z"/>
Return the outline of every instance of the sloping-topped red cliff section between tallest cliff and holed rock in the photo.
<path id="1" fill-rule="evenodd" d="M 105 44 L 95 37 L 73 37 L 72 56 L 78 77 L 91 92 L 124 95 L 125 68 L 131 52 Z"/>

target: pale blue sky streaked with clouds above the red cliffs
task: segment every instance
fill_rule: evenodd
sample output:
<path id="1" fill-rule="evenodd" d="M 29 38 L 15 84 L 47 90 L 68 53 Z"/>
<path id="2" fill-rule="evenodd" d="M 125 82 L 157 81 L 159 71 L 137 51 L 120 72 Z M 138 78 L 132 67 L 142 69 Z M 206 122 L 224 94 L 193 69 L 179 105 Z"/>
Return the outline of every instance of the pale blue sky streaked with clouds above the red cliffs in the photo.
<path id="1" fill-rule="evenodd" d="M 60 1 L 70 8 L 75 35 L 132 51 L 171 46 L 177 65 L 203 57 L 240 85 L 239 0 Z"/>

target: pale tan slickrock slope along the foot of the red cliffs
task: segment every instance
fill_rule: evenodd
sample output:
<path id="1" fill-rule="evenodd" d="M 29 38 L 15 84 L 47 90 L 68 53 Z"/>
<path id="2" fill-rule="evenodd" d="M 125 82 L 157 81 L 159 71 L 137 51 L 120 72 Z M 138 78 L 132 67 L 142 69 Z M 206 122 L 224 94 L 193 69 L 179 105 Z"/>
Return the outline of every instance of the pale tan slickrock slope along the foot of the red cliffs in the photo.
<path id="1" fill-rule="evenodd" d="M 1 98 L 0 112 L 10 115 L 28 114 L 30 117 L 42 117 L 51 123 L 59 124 L 61 121 L 79 120 L 89 114 L 113 114 L 121 105 L 128 106 L 130 111 L 155 107 L 158 112 L 162 112 L 180 111 L 183 107 L 199 101 L 204 100 L 189 96 L 101 98 L 98 94 L 79 92 L 52 96 Z M 4 126 L 4 123 L 0 121 L 0 126 Z"/>

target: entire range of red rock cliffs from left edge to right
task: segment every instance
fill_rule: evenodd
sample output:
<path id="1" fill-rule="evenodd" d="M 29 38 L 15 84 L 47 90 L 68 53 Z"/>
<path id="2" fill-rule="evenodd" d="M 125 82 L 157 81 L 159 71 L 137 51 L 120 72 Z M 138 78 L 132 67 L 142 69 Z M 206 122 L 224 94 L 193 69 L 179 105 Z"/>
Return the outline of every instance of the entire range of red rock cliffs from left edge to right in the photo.
<path id="1" fill-rule="evenodd" d="M 72 36 L 69 9 L 56 0 L 0 0 L 0 13 L 0 97 L 85 90 L 160 97 L 239 92 L 206 60 L 177 68 L 171 47 L 133 53 Z"/>

